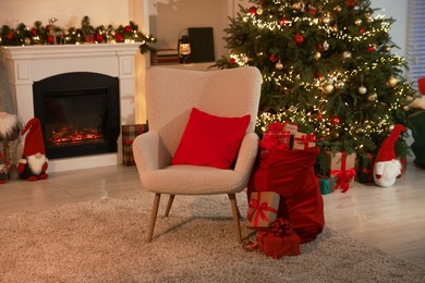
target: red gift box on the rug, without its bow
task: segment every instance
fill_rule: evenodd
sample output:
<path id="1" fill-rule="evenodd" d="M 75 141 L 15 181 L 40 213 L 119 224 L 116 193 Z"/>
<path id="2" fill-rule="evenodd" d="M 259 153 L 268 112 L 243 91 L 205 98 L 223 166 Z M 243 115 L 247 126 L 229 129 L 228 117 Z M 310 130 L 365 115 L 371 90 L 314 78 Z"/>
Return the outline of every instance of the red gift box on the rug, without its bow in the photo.
<path id="1" fill-rule="evenodd" d="M 282 256 L 300 255 L 300 236 L 292 232 L 290 235 L 278 236 L 269 231 L 257 232 L 257 245 L 263 253 L 275 259 Z"/>

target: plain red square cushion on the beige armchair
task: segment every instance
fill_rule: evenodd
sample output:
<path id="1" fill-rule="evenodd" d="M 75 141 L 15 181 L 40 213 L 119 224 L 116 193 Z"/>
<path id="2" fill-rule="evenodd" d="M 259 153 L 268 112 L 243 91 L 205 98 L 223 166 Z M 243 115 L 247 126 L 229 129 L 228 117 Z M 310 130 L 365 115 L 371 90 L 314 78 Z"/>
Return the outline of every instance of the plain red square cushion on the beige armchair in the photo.
<path id="1" fill-rule="evenodd" d="M 229 169 L 250 120 L 251 115 L 223 118 L 193 108 L 171 163 Z"/>

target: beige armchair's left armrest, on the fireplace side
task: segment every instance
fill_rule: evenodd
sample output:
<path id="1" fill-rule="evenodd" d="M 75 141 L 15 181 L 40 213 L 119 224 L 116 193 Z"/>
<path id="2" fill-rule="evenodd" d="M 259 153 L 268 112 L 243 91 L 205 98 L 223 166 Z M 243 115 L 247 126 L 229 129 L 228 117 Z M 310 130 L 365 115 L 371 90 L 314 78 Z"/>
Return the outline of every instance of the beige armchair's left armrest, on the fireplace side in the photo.
<path id="1" fill-rule="evenodd" d="M 132 147 L 134 161 L 139 172 L 158 170 L 159 135 L 157 132 L 149 131 L 136 136 Z"/>

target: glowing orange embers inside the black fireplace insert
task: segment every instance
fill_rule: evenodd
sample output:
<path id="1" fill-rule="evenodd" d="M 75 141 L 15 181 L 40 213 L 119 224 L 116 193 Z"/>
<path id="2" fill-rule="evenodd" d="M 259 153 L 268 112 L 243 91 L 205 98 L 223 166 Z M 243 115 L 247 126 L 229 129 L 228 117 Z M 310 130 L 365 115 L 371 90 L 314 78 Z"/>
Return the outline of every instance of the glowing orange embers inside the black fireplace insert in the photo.
<path id="1" fill-rule="evenodd" d="M 49 144 L 53 146 L 69 146 L 83 143 L 102 142 L 104 135 L 97 128 L 69 125 L 52 131 L 48 140 Z"/>

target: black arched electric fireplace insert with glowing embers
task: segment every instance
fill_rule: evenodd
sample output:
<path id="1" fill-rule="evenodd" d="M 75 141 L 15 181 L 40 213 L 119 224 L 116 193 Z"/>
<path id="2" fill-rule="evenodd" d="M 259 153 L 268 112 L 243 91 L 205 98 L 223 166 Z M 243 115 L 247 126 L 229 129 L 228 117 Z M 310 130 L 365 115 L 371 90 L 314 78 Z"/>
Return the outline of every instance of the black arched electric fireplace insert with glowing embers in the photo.
<path id="1" fill-rule="evenodd" d="M 117 152 L 118 84 L 117 77 L 88 72 L 34 82 L 34 114 L 49 159 Z"/>

